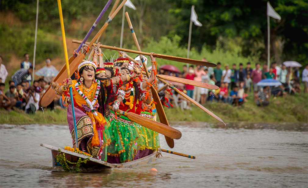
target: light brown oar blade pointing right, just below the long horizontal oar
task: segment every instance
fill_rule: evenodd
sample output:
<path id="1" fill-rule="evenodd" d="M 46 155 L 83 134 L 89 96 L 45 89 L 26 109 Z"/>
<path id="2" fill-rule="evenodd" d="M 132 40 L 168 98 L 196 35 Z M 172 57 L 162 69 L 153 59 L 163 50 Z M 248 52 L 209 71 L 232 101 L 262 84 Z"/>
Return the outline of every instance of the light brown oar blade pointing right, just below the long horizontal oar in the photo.
<path id="1" fill-rule="evenodd" d="M 178 82 L 178 83 L 182 83 L 182 84 L 189 84 L 189 85 L 193 85 L 193 86 L 197 86 L 197 87 L 201 87 L 201 88 L 208 88 L 208 89 L 218 89 L 219 87 L 217 85 L 213 85 L 213 84 L 207 84 L 204 82 L 198 82 L 195 80 L 187 80 L 184 78 L 178 78 L 178 77 L 174 77 L 174 76 L 168 76 L 168 75 L 156 75 L 158 78 L 164 79 L 164 80 L 169 80 L 169 81 L 173 81 L 173 82 Z"/>

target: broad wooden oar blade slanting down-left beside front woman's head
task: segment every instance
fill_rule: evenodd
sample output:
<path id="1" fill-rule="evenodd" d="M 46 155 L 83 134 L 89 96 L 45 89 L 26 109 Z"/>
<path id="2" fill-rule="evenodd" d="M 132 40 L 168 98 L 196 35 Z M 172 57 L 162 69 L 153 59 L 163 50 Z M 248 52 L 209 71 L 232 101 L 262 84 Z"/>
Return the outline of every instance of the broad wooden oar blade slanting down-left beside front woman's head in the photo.
<path id="1" fill-rule="evenodd" d="M 84 54 L 79 54 L 70 64 L 70 75 L 72 76 L 75 72 L 75 70 L 78 68 L 78 65 L 82 62 L 84 57 Z M 71 59 L 71 58 L 70 58 Z M 54 82 L 62 82 L 64 79 L 67 78 L 67 70 L 66 66 L 63 66 L 61 69 L 61 74 L 56 76 L 56 78 L 53 80 Z M 41 104 L 42 107 L 48 106 L 56 97 L 55 91 L 51 88 L 51 85 L 47 88 L 46 92 L 40 99 L 39 104 Z"/>

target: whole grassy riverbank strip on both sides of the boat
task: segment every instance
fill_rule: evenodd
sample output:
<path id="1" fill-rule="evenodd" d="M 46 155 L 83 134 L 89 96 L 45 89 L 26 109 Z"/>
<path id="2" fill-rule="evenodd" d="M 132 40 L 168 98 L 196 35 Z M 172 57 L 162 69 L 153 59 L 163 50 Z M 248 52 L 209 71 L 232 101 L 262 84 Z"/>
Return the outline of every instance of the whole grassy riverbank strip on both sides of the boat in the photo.
<path id="1" fill-rule="evenodd" d="M 205 107 L 227 122 L 308 122 L 308 95 L 301 93 L 286 98 L 271 98 L 270 105 L 261 109 L 249 96 L 241 108 L 225 103 L 207 103 Z M 200 108 L 182 111 L 180 108 L 165 108 L 168 121 L 218 122 Z M 37 112 L 35 115 L 24 112 L 1 110 L 0 124 L 67 124 L 66 111 L 56 109 Z"/>

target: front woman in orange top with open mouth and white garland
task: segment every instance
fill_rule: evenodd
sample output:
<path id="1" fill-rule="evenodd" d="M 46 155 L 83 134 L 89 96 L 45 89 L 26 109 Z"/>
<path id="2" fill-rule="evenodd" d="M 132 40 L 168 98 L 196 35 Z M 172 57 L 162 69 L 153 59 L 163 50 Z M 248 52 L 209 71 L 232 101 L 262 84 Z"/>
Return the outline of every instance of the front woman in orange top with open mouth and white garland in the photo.
<path id="1" fill-rule="evenodd" d="M 64 80 L 63 85 L 55 88 L 59 95 L 69 96 L 68 87 L 72 85 L 75 119 L 77 125 L 79 149 L 100 159 L 102 149 L 110 144 L 110 136 L 107 132 L 108 123 L 102 113 L 98 112 L 98 96 L 100 89 L 111 84 L 118 84 L 127 76 L 118 76 L 111 79 L 95 79 L 96 65 L 85 61 L 78 66 L 80 78 L 78 80 Z M 136 75 L 138 76 L 138 75 Z M 130 75 L 129 75 L 130 78 Z M 75 147 L 75 133 L 71 104 L 67 108 L 67 121 Z M 106 129 L 105 129 L 106 128 Z"/>

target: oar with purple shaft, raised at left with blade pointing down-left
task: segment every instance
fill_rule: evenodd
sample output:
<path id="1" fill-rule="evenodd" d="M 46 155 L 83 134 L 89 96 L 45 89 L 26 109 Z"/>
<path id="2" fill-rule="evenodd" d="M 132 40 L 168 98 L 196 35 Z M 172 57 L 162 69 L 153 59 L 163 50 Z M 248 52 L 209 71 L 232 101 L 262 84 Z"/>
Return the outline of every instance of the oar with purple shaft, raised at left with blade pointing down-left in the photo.
<path id="1" fill-rule="evenodd" d="M 79 45 L 79 47 L 77 48 L 77 52 L 80 51 L 82 45 L 87 41 L 87 39 L 89 38 L 89 36 L 91 35 L 91 33 L 94 31 L 96 25 L 98 24 L 99 20 L 103 17 L 103 15 L 105 14 L 106 10 L 108 9 L 109 5 L 111 4 L 112 0 L 109 0 L 107 2 L 107 4 L 105 5 L 105 7 L 103 8 L 103 10 L 101 11 L 101 13 L 99 14 L 99 16 L 96 18 L 95 22 L 93 23 L 92 27 L 90 28 L 90 30 L 88 31 L 87 35 L 84 37 L 82 43 Z M 68 63 L 69 65 L 71 65 L 71 63 L 74 61 L 75 56 L 72 55 L 69 59 L 68 59 Z M 82 58 L 83 59 L 83 58 Z M 81 60 L 82 60 L 81 59 Z M 66 65 L 63 65 L 63 67 L 60 69 L 58 75 L 53 79 L 54 82 L 57 82 L 58 80 L 63 80 L 63 78 L 60 76 L 65 72 L 66 70 Z M 75 69 L 71 71 L 72 73 L 75 72 Z M 40 101 L 39 101 L 39 106 L 48 106 L 52 100 L 54 100 L 56 94 L 55 92 L 51 89 L 51 85 L 47 88 L 46 92 L 44 93 L 44 95 L 41 97 Z M 47 100 L 46 100 L 47 99 Z"/>

